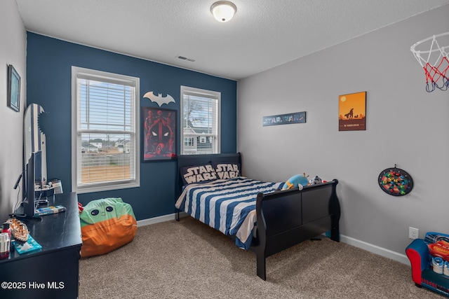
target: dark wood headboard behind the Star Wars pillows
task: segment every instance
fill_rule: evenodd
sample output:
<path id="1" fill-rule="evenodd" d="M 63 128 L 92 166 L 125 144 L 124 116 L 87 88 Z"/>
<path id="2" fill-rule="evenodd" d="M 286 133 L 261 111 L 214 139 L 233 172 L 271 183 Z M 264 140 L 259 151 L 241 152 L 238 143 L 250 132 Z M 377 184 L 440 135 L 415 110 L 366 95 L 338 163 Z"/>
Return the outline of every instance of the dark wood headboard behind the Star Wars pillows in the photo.
<path id="1" fill-rule="evenodd" d="M 201 165 L 211 162 L 234 162 L 241 165 L 240 153 L 215 153 L 207 155 L 177 155 L 177 172 L 176 172 L 176 190 L 175 195 L 177 197 L 181 194 L 182 179 L 180 175 L 181 167 Z M 241 167 L 241 166 L 240 166 Z M 241 168 L 240 168 L 241 169 Z M 240 170 L 241 173 L 241 170 Z"/>

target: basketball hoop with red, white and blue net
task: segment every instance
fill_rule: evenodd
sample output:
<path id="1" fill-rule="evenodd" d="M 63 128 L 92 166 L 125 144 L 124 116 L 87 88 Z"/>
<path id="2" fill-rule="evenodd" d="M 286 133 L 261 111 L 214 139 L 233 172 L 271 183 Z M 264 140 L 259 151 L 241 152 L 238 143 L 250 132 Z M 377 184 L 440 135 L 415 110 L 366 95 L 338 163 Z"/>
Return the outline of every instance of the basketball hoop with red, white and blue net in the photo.
<path id="1" fill-rule="evenodd" d="M 437 39 L 440 40 L 439 43 Z M 440 46 L 443 42 L 445 46 Z M 426 50 L 417 50 L 417 48 L 425 48 Z M 424 69 L 427 92 L 433 92 L 436 88 L 439 90 L 449 89 L 448 50 L 449 32 L 428 37 L 410 47 L 410 51 Z"/>

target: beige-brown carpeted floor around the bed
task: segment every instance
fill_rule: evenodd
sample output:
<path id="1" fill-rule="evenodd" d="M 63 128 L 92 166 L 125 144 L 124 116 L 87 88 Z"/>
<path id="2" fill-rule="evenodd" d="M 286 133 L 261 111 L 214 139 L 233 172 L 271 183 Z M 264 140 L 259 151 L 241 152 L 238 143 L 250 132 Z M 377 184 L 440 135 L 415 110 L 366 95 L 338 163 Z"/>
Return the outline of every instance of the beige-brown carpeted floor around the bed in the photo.
<path id="1" fill-rule="evenodd" d="M 410 266 L 326 237 L 267 258 L 190 217 L 138 228 L 133 242 L 80 262 L 79 298 L 444 298 Z"/>

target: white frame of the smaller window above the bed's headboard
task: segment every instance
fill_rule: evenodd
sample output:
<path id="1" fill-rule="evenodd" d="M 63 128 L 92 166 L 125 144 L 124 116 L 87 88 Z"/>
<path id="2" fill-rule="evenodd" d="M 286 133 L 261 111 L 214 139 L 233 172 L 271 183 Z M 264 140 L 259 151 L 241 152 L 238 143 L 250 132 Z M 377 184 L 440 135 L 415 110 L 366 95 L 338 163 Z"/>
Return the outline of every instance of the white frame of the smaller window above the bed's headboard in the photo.
<path id="1" fill-rule="evenodd" d="M 213 91 L 213 90 L 203 90 L 201 88 L 192 88 L 189 86 L 183 86 L 181 85 L 181 92 L 180 92 L 180 131 L 181 131 L 181 140 L 184 141 L 185 137 L 192 137 L 192 136 L 185 136 L 184 135 L 184 95 L 192 95 L 196 97 L 205 97 L 210 99 L 217 100 L 217 106 L 215 115 L 217 118 L 217 127 L 216 127 L 216 135 L 214 134 L 206 134 L 206 137 L 217 137 L 217 144 L 216 144 L 216 153 L 221 153 L 221 92 Z M 200 135 L 198 134 L 198 136 Z M 195 139 L 195 138 L 194 138 Z M 197 139 L 197 142 L 194 144 L 199 144 L 199 139 Z M 185 153 L 185 144 L 184 142 L 181 143 L 180 153 L 181 155 L 202 155 L 203 153 L 192 153 L 188 152 Z M 197 151 L 197 149 L 196 149 Z"/>

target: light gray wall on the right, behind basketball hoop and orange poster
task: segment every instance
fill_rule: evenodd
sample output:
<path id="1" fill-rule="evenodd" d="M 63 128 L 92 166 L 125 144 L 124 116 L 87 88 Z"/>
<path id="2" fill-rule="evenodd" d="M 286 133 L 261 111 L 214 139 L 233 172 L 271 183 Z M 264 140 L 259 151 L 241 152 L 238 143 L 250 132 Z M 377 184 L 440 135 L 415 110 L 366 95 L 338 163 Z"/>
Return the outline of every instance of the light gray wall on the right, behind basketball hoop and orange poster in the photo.
<path id="1" fill-rule="evenodd" d="M 420 237 L 448 233 L 449 90 L 426 92 L 410 52 L 417 41 L 449 32 L 448 15 L 445 5 L 239 81 L 243 175 L 339 179 L 342 241 L 404 263 L 409 226 Z M 339 132 L 339 95 L 362 91 L 366 130 Z M 307 123 L 262 127 L 262 116 L 299 111 L 307 111 Z M 395 164 L 413 176 L 406 196 L 377 184 Z"/>

